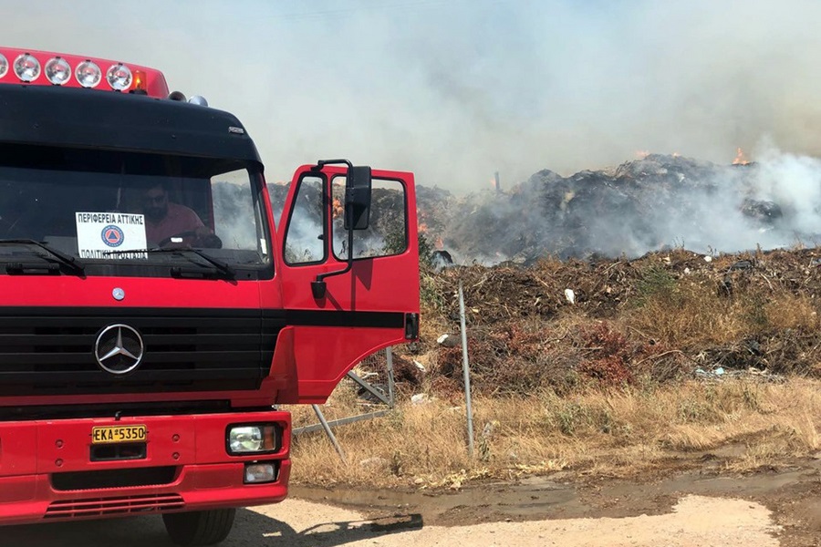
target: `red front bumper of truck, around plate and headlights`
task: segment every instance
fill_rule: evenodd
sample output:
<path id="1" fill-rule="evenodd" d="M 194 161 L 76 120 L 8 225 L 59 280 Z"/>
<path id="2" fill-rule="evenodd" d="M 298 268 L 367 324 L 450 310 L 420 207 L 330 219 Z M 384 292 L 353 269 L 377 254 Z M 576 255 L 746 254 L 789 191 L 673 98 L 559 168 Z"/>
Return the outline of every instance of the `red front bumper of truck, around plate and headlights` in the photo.
<path id="1" fill-rule="evenodd" d="M 282 428 L 276 450 L 229 456 L 227 428 L 262 422 Z M 91 428 L 115 425 L 147 428 L 144 458 L 91 461 Z M 0 423 L 0 524 L 283 501 L 290 429 L 290 415 L 279 411 Z M 253 461 L 272 463 L 275 480 L 244 484 L 244 465 Z"/>

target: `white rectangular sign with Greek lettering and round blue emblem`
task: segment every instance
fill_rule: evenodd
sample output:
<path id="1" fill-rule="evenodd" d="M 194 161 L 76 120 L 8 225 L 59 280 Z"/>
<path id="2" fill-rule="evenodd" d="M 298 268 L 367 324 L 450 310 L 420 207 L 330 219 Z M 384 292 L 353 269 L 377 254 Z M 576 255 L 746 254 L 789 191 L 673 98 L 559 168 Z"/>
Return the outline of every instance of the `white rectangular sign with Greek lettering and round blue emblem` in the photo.
<path id="1" fill-rule="evenodd" d="M 144 215 L 125 212 L 77 213 L 77 250 L 80 258 L 148 258 L 146 253 L 120 253 L 145 248 Z"/>

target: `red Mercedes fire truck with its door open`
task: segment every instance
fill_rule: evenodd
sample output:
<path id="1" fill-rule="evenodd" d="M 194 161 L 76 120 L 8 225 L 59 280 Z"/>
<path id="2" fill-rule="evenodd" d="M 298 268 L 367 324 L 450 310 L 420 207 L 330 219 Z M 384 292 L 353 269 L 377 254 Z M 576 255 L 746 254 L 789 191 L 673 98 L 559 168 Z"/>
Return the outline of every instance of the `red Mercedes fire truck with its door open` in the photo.
<path id="1" fill-rule="evenodd" d="M 276 226 L 232 114 L 0 47 L 0 524 L 161 513 L 222 541 L 286 497 L 276 406 L 417 337 L 417 249 L 411 173 L 305 165 Z"/>

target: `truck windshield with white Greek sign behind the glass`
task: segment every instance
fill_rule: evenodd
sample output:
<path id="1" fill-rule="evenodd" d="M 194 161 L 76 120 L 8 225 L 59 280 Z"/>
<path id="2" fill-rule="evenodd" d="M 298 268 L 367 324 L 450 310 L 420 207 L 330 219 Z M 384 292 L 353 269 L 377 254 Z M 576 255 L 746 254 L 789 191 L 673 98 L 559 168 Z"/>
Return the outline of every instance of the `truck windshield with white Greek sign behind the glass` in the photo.
<path id="1" fill-rule="evenodd" d="M 88 275 L 112 266 L 161 274 L 158 265 L 192 257 L 208 264 L 203 253 L 268 268 L 265 195 L 260 168 L 239 160 L 0 145 L 0 240 L 45 243 L 77 257 Z M 174 248 L 202 253 L 146 252 Z M 0 261 L 33 249 L 2 245 Z"/>

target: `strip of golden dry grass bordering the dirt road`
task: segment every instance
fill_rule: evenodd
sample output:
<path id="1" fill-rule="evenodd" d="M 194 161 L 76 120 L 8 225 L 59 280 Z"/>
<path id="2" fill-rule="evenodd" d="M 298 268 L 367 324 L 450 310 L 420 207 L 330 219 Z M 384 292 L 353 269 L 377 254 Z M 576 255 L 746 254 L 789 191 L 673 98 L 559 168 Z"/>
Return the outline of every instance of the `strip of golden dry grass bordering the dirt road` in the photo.
<path id="1" fill-rule="evenodd" d="M 387 417 L 337 429 L 348 463 L 323 433 L 297 437 L 294 480 L 458 486 L 561 469 L 630 476 L 664 469 L 673 459 L 677 465 L 696 462 L 706 452 L 727 452 L 724 466 L 751 470 L 821 447 L 819 387 L 816 380 L 795 378 L 477 398 L 473 459 L 465 448 L 464 408 L 436 399 L 403 403 Z M 358 413 L 358 407 L 340 388 L 324 409 L 334 418 Z M 310 408 L 292 410 L 297 426 L 316 421 Z"/>

